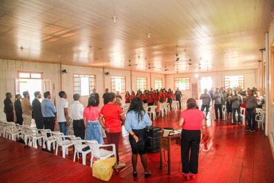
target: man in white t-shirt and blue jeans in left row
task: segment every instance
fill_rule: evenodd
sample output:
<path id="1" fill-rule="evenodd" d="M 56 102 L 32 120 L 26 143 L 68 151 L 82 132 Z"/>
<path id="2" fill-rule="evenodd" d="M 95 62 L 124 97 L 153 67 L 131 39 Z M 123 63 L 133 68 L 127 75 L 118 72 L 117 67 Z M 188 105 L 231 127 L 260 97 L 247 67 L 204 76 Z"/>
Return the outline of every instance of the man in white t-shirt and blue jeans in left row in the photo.
<path id="1" fill-rule="evenodd" d="M 68 101 L 66 100 L 66 93 L 64 91 L 59 92 L 59 102 L 57 104 L 57 122 L 59 124 L 60 132 L 63 135 L 67 134 L 67 126 L 70 121 L 68 120 Z"/>

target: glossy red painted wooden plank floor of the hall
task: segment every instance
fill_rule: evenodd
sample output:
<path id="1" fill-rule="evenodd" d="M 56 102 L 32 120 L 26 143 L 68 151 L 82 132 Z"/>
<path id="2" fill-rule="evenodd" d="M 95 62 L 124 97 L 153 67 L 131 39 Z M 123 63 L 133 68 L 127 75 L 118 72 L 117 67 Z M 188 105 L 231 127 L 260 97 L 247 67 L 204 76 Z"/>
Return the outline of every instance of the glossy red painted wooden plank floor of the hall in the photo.
<path id="1" fill-rule="evenodd" d="M 179 113 L 159 117 L 154 126 L 177 127 Z M 274 160 L 267 137 L 262 131 L 250 133 L 244 126 L 229 122 L 211 122 L 202 129 L 199 153 L 199 173 L 196 180 L 187 181 L 180 166 L 180 146 L 172 146 L 171 175 L 166 167 L 159 170 L 159 153 L 147 154 L 152 176 L 144 178 L 141 162 L 138 176 L 132 176 L 131 148 L 128 134 L 123 131 L 119 155 L 126 167 L 113 173 L 110 182 L 274 182 Z M 25 149 L 21 144 L 0 138 L 0 182 L 104 182 L 92 177 L 90 156 L 87 165 L 81 158 L 72 162 L 72 149 L 66 160 L 34 148 Z M 167 157 L 167 155 L 166 155 Z M 166 165 L 166 163 L 164 163 Z"/>

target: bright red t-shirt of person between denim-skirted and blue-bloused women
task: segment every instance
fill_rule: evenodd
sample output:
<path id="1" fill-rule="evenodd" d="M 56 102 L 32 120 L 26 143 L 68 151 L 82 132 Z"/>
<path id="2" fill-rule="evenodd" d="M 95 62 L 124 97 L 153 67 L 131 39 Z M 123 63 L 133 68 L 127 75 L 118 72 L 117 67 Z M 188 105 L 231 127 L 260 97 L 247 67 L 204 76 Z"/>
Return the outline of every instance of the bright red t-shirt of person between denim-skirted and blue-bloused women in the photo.
<path id="1" fill-rule="evenodd" d="M 100 115 L 104 116 L 106 128 L 110 133 L 121 132 L 121 117 L 124 111 L 118 104 L 106 104 L 101 108 Z"/>

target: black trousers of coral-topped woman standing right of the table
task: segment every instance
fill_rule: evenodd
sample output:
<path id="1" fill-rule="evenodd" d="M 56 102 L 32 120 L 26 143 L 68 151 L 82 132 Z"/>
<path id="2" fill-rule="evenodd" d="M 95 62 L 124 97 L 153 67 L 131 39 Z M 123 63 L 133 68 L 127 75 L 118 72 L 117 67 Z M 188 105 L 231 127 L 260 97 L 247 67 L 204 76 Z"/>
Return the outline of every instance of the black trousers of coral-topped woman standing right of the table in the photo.
<path id="1" fill-rule="evenodd" d="M 183 173 L 198 173 L 200 140 L 201 131 L 182 130 L 181 158 Z"/>

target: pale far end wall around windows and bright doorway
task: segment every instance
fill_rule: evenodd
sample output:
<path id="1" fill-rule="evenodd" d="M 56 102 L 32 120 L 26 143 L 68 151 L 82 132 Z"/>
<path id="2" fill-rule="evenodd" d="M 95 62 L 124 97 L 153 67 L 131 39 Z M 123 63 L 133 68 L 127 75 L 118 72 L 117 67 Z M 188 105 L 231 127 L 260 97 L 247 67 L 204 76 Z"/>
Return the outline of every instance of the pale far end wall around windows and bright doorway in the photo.
<path id="1" fill-rule="evenodd" d="M 216 71 L 216 72 L 206 72 L 199 73 L 199 77 L 196 76 L 197 73 L 179 73 L 176 75 L 166 75 L 166 88 L 171 88 L 175 90 L 174 78 L 175 77 L 189 77 L 190 79 L 190 90 L 183 91 L 183 94 L 186 97 L 192 97 L 192 88 L 191 84 L 197 83 L 199 88 L 199 80 L 202 77 L 212 77 L 213 79 L 213 88 L 219 88 L 224 86 L 224 77 L 226 75 L 244 75 L 244 88 L 253 88 L 257 87 L 257 69 L 248 69 L 248 70 L 227 70 L 227 71 Z M 209 89 L 209 88 L 208 88 Z"/>

